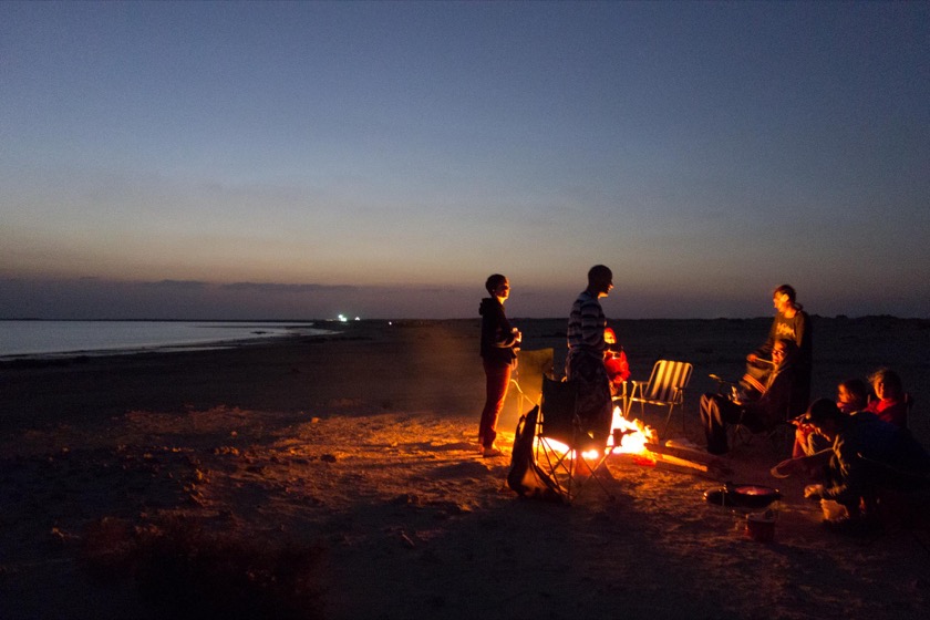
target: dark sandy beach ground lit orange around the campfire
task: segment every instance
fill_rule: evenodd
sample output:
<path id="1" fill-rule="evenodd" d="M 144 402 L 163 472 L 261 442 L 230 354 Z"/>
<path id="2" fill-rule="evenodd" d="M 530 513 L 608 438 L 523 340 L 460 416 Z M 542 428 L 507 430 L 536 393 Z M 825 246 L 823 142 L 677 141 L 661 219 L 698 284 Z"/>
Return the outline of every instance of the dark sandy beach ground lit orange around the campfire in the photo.
<path id="1" fill-rule="evenodd" d="M 515 322 L 560 369 L 565 321 Z M 707 375 L 735 376 L 769 322 L 611 324 L 634 379 L 661 358 L 695 364 L 685 431 L 676 416 L 670 435 L 701 444 Z M 930 321 L 814 328 L 814 394 L 889 365 L 930 445 Z M 509 459 L 478 456 L 478 332 L 362 321 L 232 349 L 0 363 L 0 618 L 926 613 L 930 533 L 828 531 L 806 480 L 771 477 L 779 454 L 762 438 L 726 465 L 732 482 L 782 492 L 772 544 L 704 500 L 719 476 L 626 457 L 608 461 L 609 494 L 518 498 Z M 500 423 L 507 454 L 518 413 Z M 220 549 L 211 568 L 204 541 Z"/>

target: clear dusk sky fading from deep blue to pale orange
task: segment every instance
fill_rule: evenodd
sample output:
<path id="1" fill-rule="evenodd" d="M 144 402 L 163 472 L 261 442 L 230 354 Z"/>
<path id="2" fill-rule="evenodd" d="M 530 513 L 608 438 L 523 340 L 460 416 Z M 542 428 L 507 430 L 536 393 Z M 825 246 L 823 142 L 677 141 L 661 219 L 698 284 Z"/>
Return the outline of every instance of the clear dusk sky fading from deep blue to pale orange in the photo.
<path id="1" fill-rule="evenodd" d="M 930 3 L 0 2 L 0 319 L 930 318 Z"/>

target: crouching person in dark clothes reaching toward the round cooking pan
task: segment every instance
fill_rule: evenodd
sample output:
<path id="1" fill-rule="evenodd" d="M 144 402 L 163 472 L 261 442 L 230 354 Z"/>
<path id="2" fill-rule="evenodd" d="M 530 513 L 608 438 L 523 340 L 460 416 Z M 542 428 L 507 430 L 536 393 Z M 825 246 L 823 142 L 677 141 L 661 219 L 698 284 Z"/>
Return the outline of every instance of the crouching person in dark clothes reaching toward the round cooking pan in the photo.
<path id="1" fill-rule="evenodd" d="M 807 416 L 830 447 L 812 456 L 783 461 L 773 469 L 773 474 L 782 476 L 823 471 L 823 484 L 808 486 L 805 497 L 833 499 L 855 518 L 861 515 L 861 506 L 868 509 L 876 505 L 881 489 L 927 487 L 930 455 L 906 428 L 867 411 L 846 415 L 828 399 L 814 401 Z"/>

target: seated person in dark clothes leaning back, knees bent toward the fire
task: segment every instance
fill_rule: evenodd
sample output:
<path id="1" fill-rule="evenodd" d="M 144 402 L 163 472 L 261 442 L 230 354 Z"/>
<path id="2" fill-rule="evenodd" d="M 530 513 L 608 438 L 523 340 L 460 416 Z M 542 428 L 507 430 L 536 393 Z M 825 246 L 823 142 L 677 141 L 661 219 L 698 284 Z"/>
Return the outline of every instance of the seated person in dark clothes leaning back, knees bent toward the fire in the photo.
<path id="1" fill-rule="evenodd" d="M 730 400 L 721 394 L 701 396 L 701 422 L 707 438 L 707 452 L 725 454 L 726 424 L 745 424 L 751 431 L 772 428 L 785 421 L 797 406 L 794 356 L 797 347 L 790 340 L 776 340 L 772 348 L 773 371 L 754 401 Z"/>

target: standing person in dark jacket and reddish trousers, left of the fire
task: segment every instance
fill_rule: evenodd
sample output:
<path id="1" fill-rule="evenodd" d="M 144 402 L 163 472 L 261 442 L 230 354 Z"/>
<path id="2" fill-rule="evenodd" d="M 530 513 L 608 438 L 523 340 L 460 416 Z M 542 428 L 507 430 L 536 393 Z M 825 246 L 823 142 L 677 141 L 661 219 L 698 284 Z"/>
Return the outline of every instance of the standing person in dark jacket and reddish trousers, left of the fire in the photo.
<path id="1" fill-rule="evenodd" d="M 517 348 L 523 340 L 519 330 L 504 314 L 504 302 L 510 297 L 510 282 L 500 273 L 488 277 L 485 288 L 490 297 L 482 299 L 482 360 L 485 369 L 485 406 L 478 426 L 482 456 L 500 456 L 497 418 L 507 397 L 510 372 L 517 365 Z"/>

